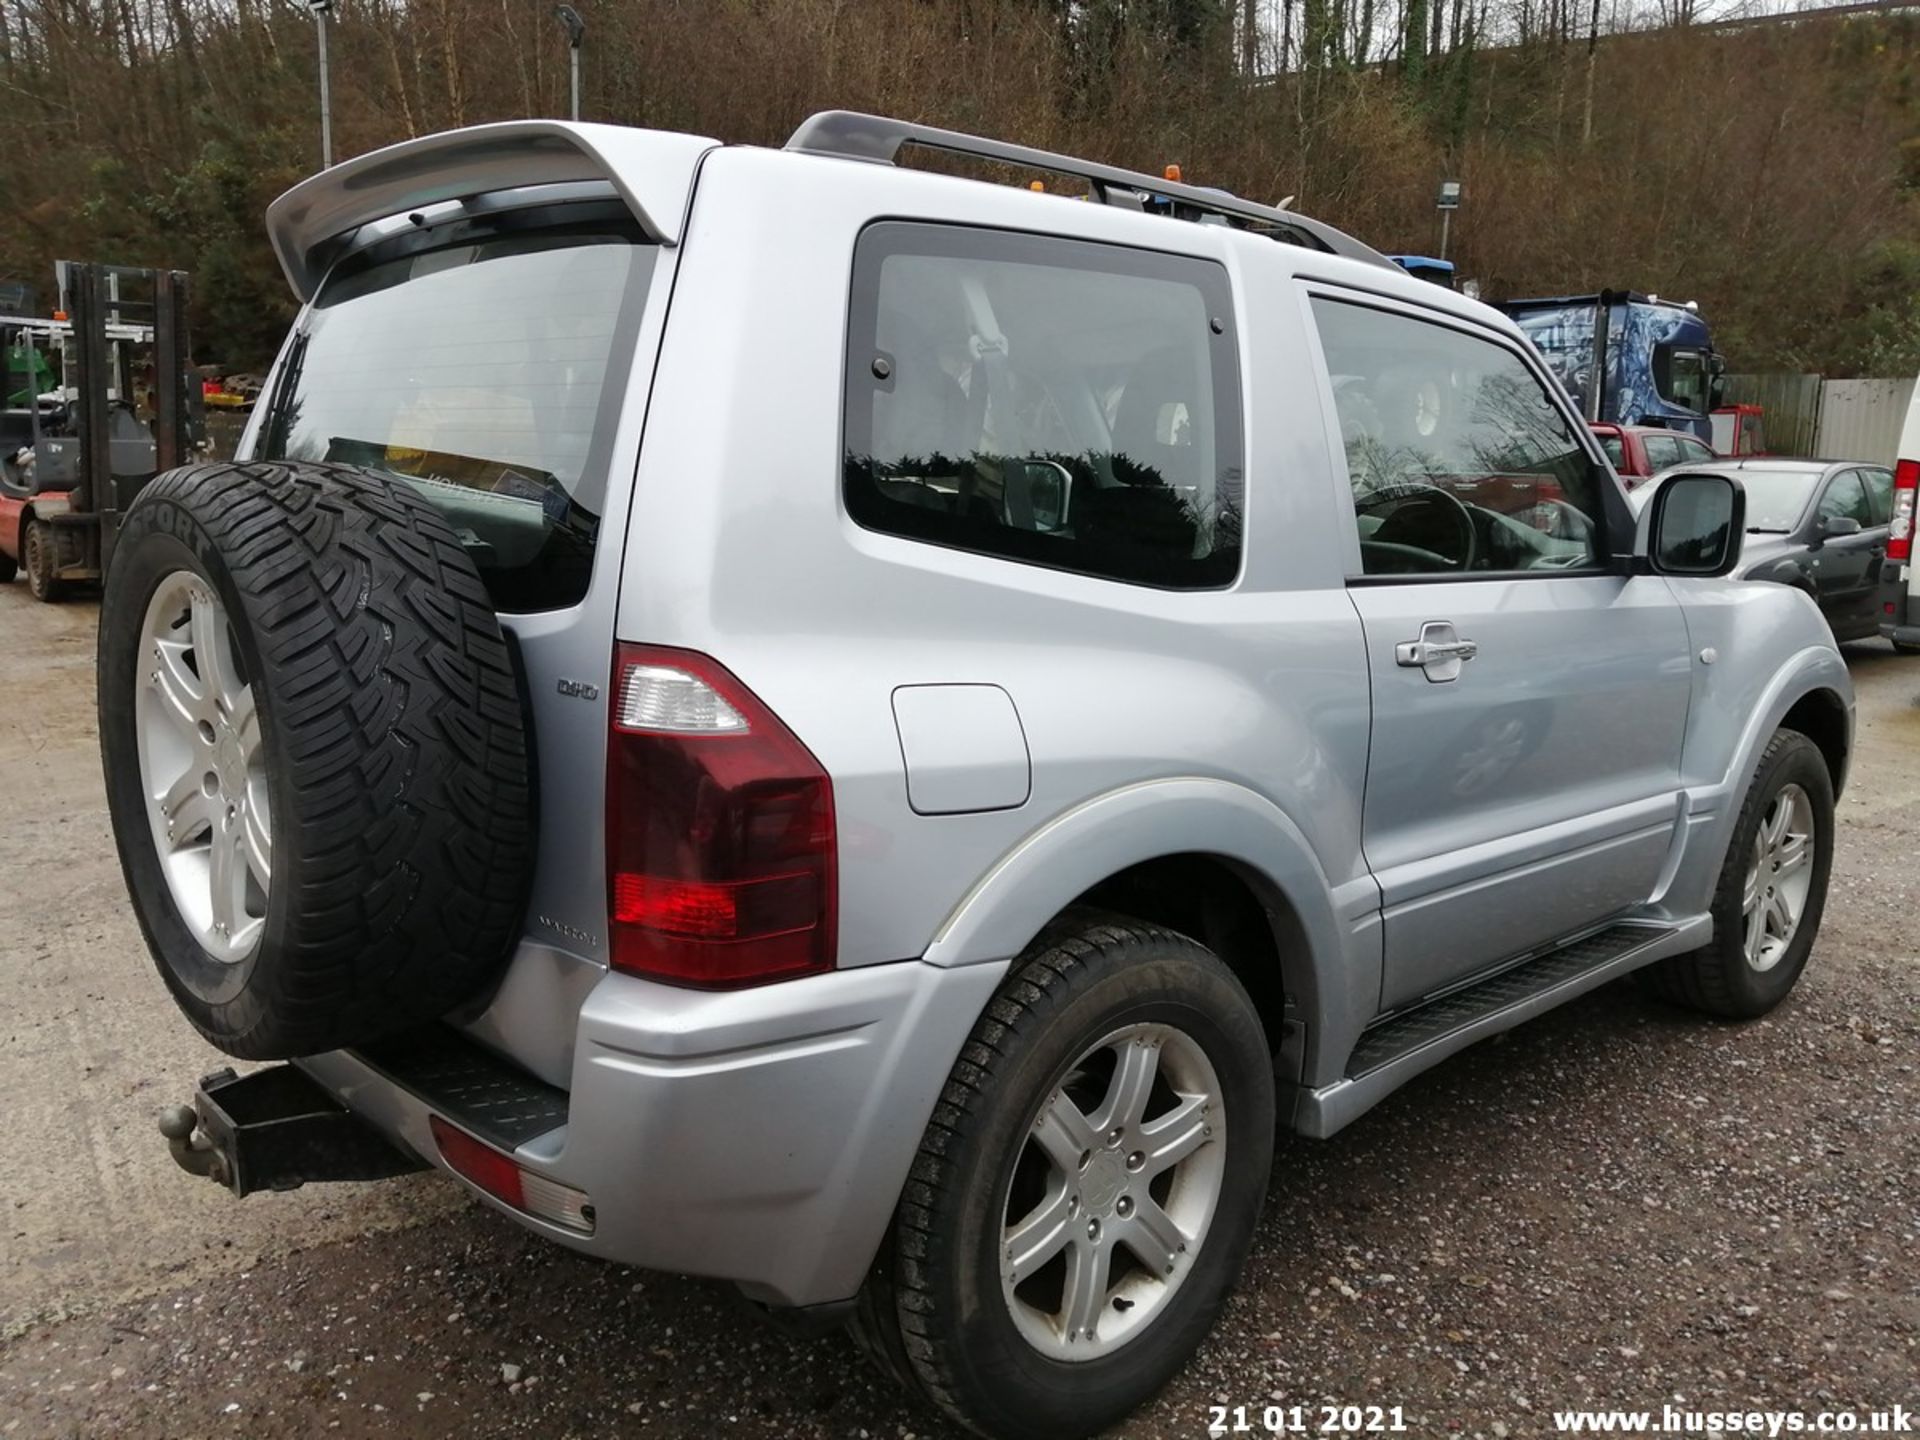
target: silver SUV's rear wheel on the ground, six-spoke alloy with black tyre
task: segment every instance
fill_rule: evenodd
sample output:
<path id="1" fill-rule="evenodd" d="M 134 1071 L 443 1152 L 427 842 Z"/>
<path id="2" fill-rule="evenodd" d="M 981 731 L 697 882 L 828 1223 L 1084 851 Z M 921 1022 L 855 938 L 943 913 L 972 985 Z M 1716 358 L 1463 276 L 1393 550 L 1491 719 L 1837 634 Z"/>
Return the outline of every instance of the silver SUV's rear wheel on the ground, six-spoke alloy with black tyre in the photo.
<path id="1" fill-rule="evenodd" d="M 1106 1428 L 1219 1315 L 1273 1121 L 1273 1060 L 1233 972 L 1158 925 L 1069 916 L 962 1050 L 856 1334 L 981 1434 Z"/>

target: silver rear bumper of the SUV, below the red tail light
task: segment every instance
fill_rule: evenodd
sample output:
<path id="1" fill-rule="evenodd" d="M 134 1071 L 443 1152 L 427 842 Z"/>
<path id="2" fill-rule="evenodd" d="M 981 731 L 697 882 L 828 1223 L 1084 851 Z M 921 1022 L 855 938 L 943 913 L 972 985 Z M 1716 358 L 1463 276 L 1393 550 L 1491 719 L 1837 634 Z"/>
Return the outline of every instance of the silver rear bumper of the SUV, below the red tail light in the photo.
<path id="1" fill-rule="evenodd" d="M 586 1192 L 593 1233 L 474 1194 L 605 1260 L 735 1281 L 776 1306 L 847 1300 L 1004 973 L 902 962 L 724 995 L 609 973 L 580 1010 L 564 1123 L 513 1150 Z M 298 1064 L 444 1167 L 430 1117 L 457 1123 L 455 1096 L 349 1050 Z"/>

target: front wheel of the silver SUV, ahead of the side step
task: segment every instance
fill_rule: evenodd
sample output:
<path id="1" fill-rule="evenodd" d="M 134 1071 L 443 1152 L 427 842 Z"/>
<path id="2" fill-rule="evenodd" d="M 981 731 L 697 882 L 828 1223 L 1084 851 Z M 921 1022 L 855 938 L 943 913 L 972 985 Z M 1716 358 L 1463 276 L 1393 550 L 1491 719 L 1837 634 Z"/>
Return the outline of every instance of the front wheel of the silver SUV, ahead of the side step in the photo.
<path id="1" fill-rule="evenodd" d="M 1820 747 L 1776 730 L 1747 787 L 1713 897 L 1713 943 L 1642 972 L 1655 995 L 1755 1020 L 1807 968 L 1834 864 L 1834 781 Z"/>

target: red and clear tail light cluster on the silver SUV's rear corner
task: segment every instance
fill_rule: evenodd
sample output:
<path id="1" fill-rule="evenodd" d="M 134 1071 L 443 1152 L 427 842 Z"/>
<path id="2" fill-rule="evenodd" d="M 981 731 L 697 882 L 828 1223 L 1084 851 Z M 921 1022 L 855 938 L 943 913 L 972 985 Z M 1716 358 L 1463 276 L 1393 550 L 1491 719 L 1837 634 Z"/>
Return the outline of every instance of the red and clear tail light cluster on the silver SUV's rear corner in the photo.
<path id="1" fill-rule="evenodd" d="M 620 645 L 607 743 L 614 970 L 703 989 L 833 968 L 833 783 L 716 660 Z"/>

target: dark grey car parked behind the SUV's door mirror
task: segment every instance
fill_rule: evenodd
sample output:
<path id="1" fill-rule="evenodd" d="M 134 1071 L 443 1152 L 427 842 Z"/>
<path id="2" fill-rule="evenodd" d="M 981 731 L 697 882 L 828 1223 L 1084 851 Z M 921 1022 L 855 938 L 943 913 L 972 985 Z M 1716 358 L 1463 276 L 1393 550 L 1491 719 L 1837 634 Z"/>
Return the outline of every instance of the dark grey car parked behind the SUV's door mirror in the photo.
<path id="1" fill-rule="evenodd" d="M 1834 628 L 1834 639 L 1880 634 L 1891 470 L 1860 461 L 1715 461 L 1642 484 L 1634 507 L 1644 507 L 1672 474 L 1730 474 L 1745 486 L 1747 543 L 1736 570 L 1741 580 L 1805 589 Z"/>

